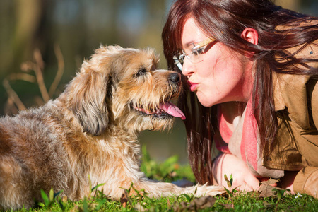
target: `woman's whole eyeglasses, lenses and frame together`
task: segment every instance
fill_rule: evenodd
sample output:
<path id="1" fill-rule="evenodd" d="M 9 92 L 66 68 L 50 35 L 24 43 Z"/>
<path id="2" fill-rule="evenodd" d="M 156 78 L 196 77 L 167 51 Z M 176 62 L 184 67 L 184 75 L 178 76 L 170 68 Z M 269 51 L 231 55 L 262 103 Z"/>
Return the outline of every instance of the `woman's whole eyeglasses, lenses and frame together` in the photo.
<path id="1" fill-rule="evenodd" d="M 189 59 L 189 61 L 192 62 L 192 64 L 197 64 L 201 61 L 203 61 L 203 57 L 200 57 L 201 54 L 204 54 L 204 49 L 205 46 L 210 44 L 211 42 L 215 41 L 216 39 L 213 37 L 209 37 L 208 39 L 199 42 L 197 45 L 193 45 L 193 48 L 191 49 L 191 52 L 189 54 L 187 54 L 186 52 L 184 52 L 184 50 L 182 50 L 182 53 L 178 53 L 175 54 L 173 56 L 173 60 L 175 61 L 175 65 L 177 65 L 177 67 L 182 70 L 182 65 L 184 62 L 184 57 L 187 57 L 187 59 Z"/>

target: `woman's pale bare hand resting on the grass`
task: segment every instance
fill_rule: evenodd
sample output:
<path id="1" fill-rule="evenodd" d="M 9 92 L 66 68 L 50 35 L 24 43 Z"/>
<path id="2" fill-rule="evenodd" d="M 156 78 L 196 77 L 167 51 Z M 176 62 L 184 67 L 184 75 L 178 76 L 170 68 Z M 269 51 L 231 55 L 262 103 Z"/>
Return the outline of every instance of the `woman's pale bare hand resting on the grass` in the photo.
<path id="1" fill-rule="evenodd" d="M 235 155 L 223 153 L 214 160 L 214 179 L 216 179 L 218 184 L 228 187 L 227 182 L 224 179 L 225 174 L 228 178 L 232 175 L 232 188 L 237 187 L 237 189 L 240 189 L 241 191 L 245 190 L 247 192 L 255 191 L 259 188 L 259 179 L 252 175 L 252 172 L 249 171 L 245 162 Z"/>

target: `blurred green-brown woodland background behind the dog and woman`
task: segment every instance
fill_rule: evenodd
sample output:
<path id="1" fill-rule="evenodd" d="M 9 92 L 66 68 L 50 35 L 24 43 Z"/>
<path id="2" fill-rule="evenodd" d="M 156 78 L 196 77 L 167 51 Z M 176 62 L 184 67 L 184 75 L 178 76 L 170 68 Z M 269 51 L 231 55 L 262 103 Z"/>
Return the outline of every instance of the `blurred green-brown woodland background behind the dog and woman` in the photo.
<path id="1" fill-rule="evenodd" d="M 2 0 L 0 116 L 56 98 L 100 44 L 153 47 L 165 69 L 161 30 L 171 4 L 172 0 Z M 317 0 L 276 4 L 318 15 Z M 145 131 L 140 140 L 155 160 L 179 155 L 180 163 L 187 163 L 179 119 L 169 132 Z"/>

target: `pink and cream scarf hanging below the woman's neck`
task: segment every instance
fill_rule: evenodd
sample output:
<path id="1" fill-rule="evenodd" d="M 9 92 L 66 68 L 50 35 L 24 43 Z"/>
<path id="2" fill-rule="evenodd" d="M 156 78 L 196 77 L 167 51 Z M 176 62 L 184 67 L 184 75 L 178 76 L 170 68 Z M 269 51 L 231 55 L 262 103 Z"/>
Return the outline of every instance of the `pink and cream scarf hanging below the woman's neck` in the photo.
<path id="1" fill-rule="evenodd" d="M 252 98 L 249 98 L 245 111 L 231 131 L 225 122 L 221 107 L 218 107 L 218 127 L 220 135 L 214 137 L 216 148 L 222 153 L 228 153 L 241 158 L 256 177 L 283 177 L 283 170 L 271 170 L 262 165 L 259 151 L 259 131 L 252 110 Z"/>

